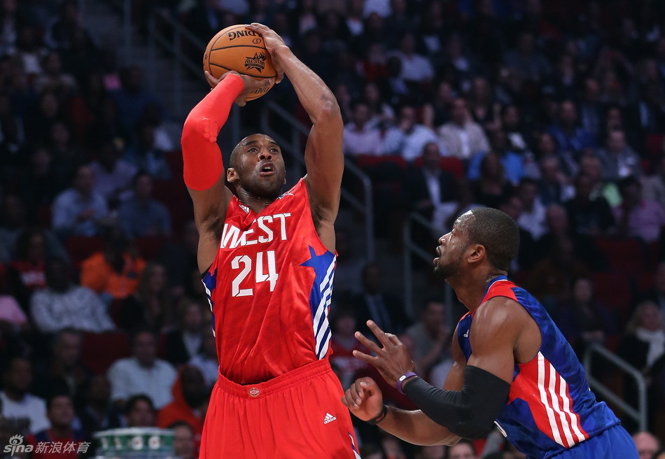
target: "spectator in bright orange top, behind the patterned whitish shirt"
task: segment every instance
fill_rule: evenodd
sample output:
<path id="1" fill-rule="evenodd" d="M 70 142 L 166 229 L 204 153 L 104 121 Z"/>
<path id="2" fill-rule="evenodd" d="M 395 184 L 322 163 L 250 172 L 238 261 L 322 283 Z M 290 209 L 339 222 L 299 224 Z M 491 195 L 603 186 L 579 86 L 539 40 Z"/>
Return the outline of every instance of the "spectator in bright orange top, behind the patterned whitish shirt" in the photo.
<path id="1" fill-rule="evenodd" d="M 125 299 L 139 286 L 139 276 L 146 262 L 127 250 L 127 240 L 110 232 L 106 246 L 83 260 L 80 268 L 80 285 L 92 289 L 102 296 L 104 302 Z"/>

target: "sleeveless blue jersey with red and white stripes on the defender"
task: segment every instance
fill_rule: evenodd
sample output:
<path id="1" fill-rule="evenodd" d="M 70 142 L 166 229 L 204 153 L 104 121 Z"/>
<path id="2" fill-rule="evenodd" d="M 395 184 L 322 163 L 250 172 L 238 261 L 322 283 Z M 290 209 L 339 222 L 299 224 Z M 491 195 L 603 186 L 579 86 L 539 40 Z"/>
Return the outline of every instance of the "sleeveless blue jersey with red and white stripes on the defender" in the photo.
<path id="1" fill-rule="evenodd" d="M 493 297 L 521 304 L 542 337 L 538 355 L 515 363 L 508 399 L 496 419 L 507 440 L 528 458 L 547 459 L 619 424 L 607 405 L 596 401 L 573 348 L 540 303 L 505 276 L 489 283 L 481 304 Z M 466 360 L 472 354 L 472 320 L 473 313 L 466 313 L 458 323 L 457 339 Z"/>

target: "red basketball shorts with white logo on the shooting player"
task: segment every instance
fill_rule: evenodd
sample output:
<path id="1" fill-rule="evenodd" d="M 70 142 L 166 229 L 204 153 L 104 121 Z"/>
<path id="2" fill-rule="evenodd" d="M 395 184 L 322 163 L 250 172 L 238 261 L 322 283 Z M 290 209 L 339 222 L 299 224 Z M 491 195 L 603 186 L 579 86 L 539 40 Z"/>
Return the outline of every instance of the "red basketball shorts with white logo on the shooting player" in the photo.
<path id="1" fill-rule="evenodd" d="M 242 386 L 219 375 L 200 459 L 360 459 L 328 359 Z"/>

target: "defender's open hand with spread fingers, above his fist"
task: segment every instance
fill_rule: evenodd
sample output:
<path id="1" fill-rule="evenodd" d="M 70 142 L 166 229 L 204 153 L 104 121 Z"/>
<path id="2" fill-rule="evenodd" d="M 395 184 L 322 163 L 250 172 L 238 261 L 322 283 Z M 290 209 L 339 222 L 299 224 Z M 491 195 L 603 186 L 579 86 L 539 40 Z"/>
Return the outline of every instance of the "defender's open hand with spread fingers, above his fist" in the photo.
<path id="1" fill-rule="evenodd" d="M 367 346 L 376 356 L 373 357 L 360 351 L 353 351 L 353 355 L 377 367 L 386 382 L 397 387 L 397 381 L 402 374 L 414 371 L 413 360 L 404 343 L 394 334 L 384 332 L 372 320 L 367 320 L 367 326 L 383 347 L 379 347 L 362 333 L 356 332 L 356 339 Z"/>

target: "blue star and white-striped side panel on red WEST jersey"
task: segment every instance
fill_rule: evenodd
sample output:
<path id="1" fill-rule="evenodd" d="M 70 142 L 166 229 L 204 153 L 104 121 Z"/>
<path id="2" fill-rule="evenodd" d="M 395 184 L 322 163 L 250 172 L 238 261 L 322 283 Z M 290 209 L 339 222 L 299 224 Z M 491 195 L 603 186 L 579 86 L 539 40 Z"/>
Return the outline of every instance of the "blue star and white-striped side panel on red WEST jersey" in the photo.
<path id="1" fill-rule="evenodd" d="M 335 254 L 326 250 L 316 255 L 314 248 L 309 246 L 310 258 L 300 266 L 314 268 L 314 283 L 309 292 L 309 308 L 311 309 L 312 327 L 316 337 L 316 356 L 321 359 L 328 352 L 330 344 L 330 324 L 328 312 L 332 297 L 332 277 L 335 274 Z"/>

